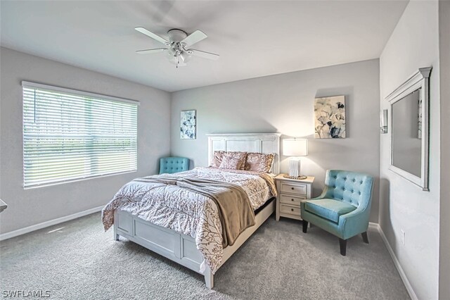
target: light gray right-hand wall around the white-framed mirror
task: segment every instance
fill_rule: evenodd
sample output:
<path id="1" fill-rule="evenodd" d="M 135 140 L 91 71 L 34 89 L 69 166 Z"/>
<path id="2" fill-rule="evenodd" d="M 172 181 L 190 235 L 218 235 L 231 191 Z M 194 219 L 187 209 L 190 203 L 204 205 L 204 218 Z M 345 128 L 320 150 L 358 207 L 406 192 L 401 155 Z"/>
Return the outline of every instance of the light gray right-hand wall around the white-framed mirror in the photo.
<path id="1" fill-rule="evenodd" d="M 380 108 L 389 108 L 384 98 L 418 68 L 429 66 L 433 67 L 430 76 L 430 192 L 423 192 L 388 169 L 390 135 L 382 135 L 380 139 L 379 223 L 418 299 L 438 297 L 439 36 L 438 2 L 410 1 L 380 56 Z M 406 235 L 404 245 L 401 230 Z"/>

